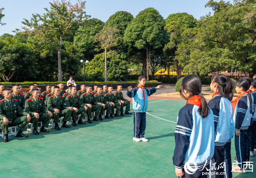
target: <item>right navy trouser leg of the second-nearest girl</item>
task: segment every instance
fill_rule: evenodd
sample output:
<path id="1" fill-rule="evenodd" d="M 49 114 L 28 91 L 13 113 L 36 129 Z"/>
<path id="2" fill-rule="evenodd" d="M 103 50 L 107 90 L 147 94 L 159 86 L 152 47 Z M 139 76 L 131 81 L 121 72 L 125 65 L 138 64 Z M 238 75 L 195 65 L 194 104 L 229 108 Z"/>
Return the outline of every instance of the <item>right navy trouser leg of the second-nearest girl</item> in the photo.
<path id="1" fill-rule="evenodd" d="M 225 162 L 225 166 L 226 166 L 226 171 L 225 171 L 226 176 L 225 177 L 232 178 L 232 160 L 231 160 L 231 153 L 230 153 L 231 140 L 225 144 L 224 150 L 225 150 L 224 162 Z"/>

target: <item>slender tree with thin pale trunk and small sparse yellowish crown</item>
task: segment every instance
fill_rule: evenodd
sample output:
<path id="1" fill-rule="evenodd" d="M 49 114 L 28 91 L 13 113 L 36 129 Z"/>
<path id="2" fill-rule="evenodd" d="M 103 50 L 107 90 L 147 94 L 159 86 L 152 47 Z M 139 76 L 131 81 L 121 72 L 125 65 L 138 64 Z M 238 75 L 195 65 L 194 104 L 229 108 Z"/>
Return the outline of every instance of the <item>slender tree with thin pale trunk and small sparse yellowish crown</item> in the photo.
<path id="1" fill-rule="evenodd" d="M 111 47 L 118 45 L 118 36 L 115 34 L 119 34 L 119 29 L 111 26 L 104 26 L 102 30 L 96 34 L 95 42 L 99 42 L 101 49 L 105 50 L 105 82 L 107 82 L 107 53 Z"/>

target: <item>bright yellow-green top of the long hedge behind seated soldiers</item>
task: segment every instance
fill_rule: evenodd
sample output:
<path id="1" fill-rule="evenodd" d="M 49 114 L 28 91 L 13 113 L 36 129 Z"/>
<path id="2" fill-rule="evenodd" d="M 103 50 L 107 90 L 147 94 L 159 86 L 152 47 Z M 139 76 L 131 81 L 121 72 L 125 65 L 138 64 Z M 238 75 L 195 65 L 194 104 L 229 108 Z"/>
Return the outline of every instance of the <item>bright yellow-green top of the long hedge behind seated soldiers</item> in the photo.
<path id="1" fill-rule="evenodd" d="M 135 81 L 125 81 L 125 82 L 137 82 L 137 80 Z M 146 82 L 157 82 L 157 80 L 150 80 L 150 81 L 146 81 Z M 59 82 L 0 82 L 0 84 L 3 85 L 14 85 L 18 83 L 19 85 L 31 85 L 32 83 L 37 83 L 38 85 L 46 85 L 46 84 L 58 84 Z M 67 83 L 67 82 L 62 82 L 62 83 Z M 82 84 L 84 82 L 76 82 L 76 84 Z M 117 81 L 109 81 L 109 82 L 85 82 L 85 83 L 123 83 L 123 82 L 117 82 Z"/>

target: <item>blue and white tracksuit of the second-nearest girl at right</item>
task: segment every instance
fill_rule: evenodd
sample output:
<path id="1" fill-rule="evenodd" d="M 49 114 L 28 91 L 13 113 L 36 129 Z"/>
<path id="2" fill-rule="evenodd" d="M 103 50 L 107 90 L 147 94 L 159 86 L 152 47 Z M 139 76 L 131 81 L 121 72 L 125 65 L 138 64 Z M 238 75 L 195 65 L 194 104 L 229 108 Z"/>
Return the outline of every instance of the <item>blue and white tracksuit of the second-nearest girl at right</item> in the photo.
<path id="1" fill-rule="evenodd" d="M 227 160 L 227 163 L 225 164 L 226 170 L 224 171 L 224 167 L 216 170 L 213 169 L 212 171 L 218 172 L 218 174 L 213 174 L 211 177 L 224 177 L 223 173 L 225 172 L 225 175 L 231 178 L 232 161 L 230 143 L 234 136 L 232 104 L 226 97 L 221 97 L 218 93 L 213 96 L 208 105 L 212 109 L 214 115 L 215 149 L 212 162 L 216 163 L 217 167 L 219 165 L 224 165 L 224 160 Z M 229 143 L 227 144 L 227 142 Z M 228 146 L 227 149 L 225 149 L 226 146 Z"/>

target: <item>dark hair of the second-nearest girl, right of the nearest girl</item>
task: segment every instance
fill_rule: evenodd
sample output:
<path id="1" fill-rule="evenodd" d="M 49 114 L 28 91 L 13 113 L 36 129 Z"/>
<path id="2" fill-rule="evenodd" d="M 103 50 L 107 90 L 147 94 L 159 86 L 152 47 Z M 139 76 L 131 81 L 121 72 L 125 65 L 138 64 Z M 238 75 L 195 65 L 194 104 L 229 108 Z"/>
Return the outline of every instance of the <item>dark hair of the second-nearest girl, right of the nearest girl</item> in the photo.
<path id="1" fill-rule="evenodd" d="M 217 90 L 220 92 L 221 97 L 226 97 L 229 101 L 232 101 L 235 82 L 222 74 L 213 75 L 211 80 L 217 83 Z"/>

